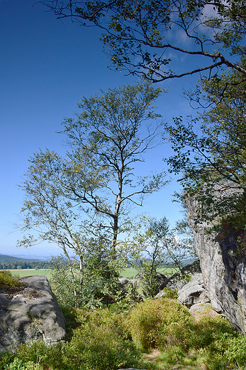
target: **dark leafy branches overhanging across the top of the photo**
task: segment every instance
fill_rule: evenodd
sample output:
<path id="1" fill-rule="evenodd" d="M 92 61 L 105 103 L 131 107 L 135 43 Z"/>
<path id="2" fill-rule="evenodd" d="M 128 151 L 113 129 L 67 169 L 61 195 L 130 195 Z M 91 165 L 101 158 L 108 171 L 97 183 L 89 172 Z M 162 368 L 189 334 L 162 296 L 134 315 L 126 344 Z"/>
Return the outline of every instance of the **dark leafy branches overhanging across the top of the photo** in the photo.
<path id="1" fill-rule="evenodd" d="M 113 68 L 153 82 L 206 71 L 216 77 L 221 66 L 246 75 L 239 60 L 246 50 L 242 0 L 39 2 L 57 18 L 100 27 Z M 171 56 L 175 60 L 184 54 L 191 56 L 191 63 L 179 65 L 176 72 L 167 69 Z M 200 58 L 195 63 L 194 56 Z"/>

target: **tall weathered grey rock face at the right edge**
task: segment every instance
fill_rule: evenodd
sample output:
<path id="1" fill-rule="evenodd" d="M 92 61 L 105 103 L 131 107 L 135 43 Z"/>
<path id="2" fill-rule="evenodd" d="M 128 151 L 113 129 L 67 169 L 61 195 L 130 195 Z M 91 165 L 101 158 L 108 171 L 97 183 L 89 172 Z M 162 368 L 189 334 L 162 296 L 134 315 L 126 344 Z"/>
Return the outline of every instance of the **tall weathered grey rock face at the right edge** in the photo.
<path id="1" fill-rule="evenodd" d="M 246 256 L 238 253 L 237 235 L 217 241 L 208 233 L 208 223 L 195 226 L 199 206 L 186 199 L 189 226 L 194 232 L 206 294 L 213 310 L 222 313 L 233 326 L 246 334 Z"/>

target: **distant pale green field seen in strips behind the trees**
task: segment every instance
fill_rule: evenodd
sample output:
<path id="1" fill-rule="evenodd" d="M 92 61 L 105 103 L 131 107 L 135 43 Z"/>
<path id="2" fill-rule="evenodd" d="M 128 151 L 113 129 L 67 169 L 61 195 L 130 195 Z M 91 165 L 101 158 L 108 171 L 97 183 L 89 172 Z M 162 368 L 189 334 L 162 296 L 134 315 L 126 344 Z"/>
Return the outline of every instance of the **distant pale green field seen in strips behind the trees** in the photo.
<path id="1" fill-rule="evenodd" d="M 47 278 L 50 277 L 50 270 L 31 270 L 31 269 L 27 269 L 27 270 L 10 270 L 11 271 L 11 274 L 12 275 L 19 275 L 20 277 L 23 277 L 23 276 L 33 276 L 33 275 L 43 275 L 43 276 L 46 276 Z M 160 268 L 158 270 L 158 272 L 166 275 L 167 277 L 169 276 L 172 276 L 174 275 L 174 273 L 177 272 L 177 270 L 175 270 L 175 268 Z M 132 279 L 133 276 L 137 275 L 138 274 L 138 270 L 135 270 L 135 268 L 125 268 L 122 273 L 121 273 L 121 276 L 122 277 L 127 277 L 128 279 Z"/>

